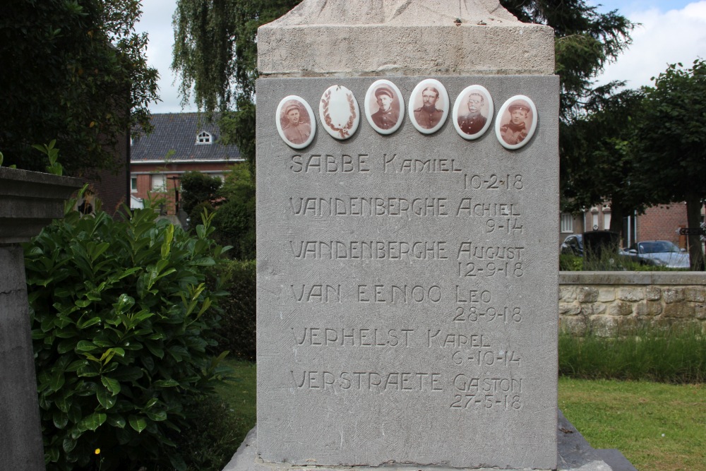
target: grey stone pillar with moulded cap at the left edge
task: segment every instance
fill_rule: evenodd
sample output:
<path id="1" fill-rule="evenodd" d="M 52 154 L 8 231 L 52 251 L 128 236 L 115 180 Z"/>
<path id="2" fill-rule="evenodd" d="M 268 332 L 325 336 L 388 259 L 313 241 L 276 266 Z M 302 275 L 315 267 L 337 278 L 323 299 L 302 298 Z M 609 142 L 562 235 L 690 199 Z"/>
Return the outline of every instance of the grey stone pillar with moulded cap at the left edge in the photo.
<path id="1" fill-rule="evenodd" d="M 44 470 L 39 403 L 19 242 L 64 216 L 78 179 L 0 167 L 0 467 Z"/>

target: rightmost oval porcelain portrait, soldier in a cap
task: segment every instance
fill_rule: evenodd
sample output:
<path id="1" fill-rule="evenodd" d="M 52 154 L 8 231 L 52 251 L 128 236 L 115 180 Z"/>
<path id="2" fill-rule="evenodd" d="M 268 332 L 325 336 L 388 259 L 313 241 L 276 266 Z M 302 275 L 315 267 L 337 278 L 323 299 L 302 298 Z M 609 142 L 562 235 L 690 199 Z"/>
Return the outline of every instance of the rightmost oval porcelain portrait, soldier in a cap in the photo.
<path id="1" fill-rule="evenodd" d="M 537 129 L 537 107 L 525 95 L 506 101 L 495 120 L 495 134 L 504 148 L 515 150 L 530 142 Z"/>

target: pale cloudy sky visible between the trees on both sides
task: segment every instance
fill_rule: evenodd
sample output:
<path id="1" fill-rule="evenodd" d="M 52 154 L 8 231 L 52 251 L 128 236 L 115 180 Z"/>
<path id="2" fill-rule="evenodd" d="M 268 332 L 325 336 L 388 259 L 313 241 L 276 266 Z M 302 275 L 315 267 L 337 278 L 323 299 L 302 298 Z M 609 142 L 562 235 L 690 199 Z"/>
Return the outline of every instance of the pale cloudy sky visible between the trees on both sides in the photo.
<path id="1" fill-rule="evenodd" d="M 139 31 L 150 35 L 148 61 L 160 71 L 162 102 L 150 106 L 153 113 L 182 111 L 177 84 L 169 69 L 172 63 L 174 32 L 172 15 L 176 0 L 143 0 Z M 666 69 L 667 64 L 690 65 L 706 59 L 706 0 L 588 0 L 602 4 L 601 11 L 618 10 L 635 23 L 633 44 L 615 64 L 606 67 L 599 83 L 626 80 L 628 87 L 651 85 L 650 78 Z M 192 106 L 184 111 L 196 111 Z"/>

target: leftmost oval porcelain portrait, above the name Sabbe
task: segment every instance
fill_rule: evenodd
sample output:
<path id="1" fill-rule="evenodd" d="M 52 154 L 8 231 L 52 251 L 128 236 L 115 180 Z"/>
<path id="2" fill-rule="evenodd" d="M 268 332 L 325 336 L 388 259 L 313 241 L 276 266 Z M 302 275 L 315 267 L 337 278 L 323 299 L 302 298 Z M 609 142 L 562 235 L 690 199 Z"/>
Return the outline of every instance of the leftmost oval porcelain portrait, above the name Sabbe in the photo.
<path id="1" fill-rule="evenodd" d="M 294 149 L 303 149 L 313 141 L 316 120 L 309 103 L 297 95 L 282 98 L 275 112 L 277 132 L 282 141 Z"/>

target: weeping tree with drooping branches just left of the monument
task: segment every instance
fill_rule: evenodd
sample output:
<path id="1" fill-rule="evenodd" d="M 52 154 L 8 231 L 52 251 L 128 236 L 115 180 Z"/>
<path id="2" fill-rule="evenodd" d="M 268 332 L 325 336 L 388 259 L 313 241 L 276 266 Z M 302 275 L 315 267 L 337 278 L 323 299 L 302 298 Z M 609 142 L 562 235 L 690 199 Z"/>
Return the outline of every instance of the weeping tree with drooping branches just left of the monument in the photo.
<path id="1" fill-rule="evenodd" d="M 258 27 L 301 0 L 178 0 L 172 69 L 182 103 L 193 99 L 211 117 L 221 112 L 221 143 L 235 144 L 255 163 L 255 81 Z"/>

